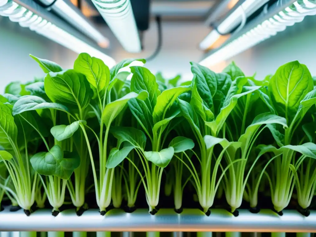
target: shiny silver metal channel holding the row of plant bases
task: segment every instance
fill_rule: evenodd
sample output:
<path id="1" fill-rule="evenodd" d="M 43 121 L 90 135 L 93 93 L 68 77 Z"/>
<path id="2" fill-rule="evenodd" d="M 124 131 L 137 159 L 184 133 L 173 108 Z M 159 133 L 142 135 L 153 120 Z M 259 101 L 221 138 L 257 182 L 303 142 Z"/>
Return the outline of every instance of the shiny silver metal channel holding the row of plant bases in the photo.
<path id="1" fill-rule="evenodd" d="M 101 216 L 98 210 L 87 210 L 76 216 L 75 210 L 65 210 L 57 217 L 50 210 L 37 210 L 26 216 L 23 210 L 0 212 L 0 231 L 213 231 L 213 232 L 316 232 L 316 211 L 302 216 L 295 210 L 285 210 L 283 216 L 271 210 L 252 214 L 240 210 L 235 217 L 226 210 L 211 210 L 206 216 L 197 209 L 184 209 L 181 214 L 161 209 L 155 216 L 147 210 L 125 213 L 110 210 Z"/>

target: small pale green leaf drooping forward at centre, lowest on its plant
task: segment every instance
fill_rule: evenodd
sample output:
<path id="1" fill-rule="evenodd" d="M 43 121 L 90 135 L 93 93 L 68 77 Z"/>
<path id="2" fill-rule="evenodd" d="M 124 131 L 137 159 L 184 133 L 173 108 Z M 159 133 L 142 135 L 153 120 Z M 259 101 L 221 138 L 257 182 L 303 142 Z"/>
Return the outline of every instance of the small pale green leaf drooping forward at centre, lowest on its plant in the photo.
<path id="1" fill-rule="evenodd" d="M 162 149 L 161 151 L 145 151 L 144 155 L 147 160 L 154 163 L 156 166 L 165 168 L 170 163 L 174 154 L 173 147 Z"/>

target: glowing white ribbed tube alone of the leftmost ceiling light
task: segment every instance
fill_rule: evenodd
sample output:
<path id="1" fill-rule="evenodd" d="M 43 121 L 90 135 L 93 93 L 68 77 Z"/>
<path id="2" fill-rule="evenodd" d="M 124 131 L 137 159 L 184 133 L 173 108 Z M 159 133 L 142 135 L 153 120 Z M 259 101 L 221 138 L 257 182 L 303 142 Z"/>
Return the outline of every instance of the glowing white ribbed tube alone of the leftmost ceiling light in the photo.
<path id="1" fill-rule="evenodd" d="M 11 21 L 19 22 L 21 27 L 29 27 L 76 53 L 87 52 L 91 56 L 100 58 L 110 68 L 115 65 L 113 58 L 12 0 L 0 0 L 0 15 L 8 16 Z"/>

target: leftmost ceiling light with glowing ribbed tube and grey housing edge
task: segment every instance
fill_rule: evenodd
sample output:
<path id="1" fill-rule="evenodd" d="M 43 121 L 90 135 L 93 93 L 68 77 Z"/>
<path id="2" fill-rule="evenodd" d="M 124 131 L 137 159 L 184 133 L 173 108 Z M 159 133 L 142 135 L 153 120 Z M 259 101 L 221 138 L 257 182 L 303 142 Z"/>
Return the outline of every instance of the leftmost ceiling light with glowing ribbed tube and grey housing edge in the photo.
<path id="1" fill-rule="evenodd" d="M 0 0 L 0 15 L 8 16 L 11 21 L 18 22 L 21 27 L 28 27 L 76 53 L 87 52 L 91 56 L 100 58 L 110 68 L 115 65 L 115 60 L 101 52 L 102 49 L 94 42 L 48 11 L 42 11 L 41 7 L 32 0 L 23 0 L 23 2 Z"/>

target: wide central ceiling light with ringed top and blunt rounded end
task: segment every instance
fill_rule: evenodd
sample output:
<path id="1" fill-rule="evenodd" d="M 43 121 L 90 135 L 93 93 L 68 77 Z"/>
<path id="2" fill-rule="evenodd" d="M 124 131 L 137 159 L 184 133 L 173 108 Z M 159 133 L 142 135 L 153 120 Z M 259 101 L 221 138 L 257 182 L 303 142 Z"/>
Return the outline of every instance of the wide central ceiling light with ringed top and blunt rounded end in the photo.
<path id="1" fill-rule="evenodd" d="M 141 51 L 141 43 L 130 0 L 91 0 L 123 48 Z"/>

